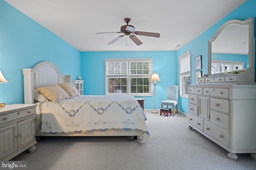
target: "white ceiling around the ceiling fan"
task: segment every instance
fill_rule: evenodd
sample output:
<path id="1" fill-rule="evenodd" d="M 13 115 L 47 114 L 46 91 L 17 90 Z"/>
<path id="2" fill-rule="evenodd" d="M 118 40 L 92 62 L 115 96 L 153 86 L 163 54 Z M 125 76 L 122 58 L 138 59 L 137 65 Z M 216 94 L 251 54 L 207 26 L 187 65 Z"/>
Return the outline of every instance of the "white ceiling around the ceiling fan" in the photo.
<path id="1" fill-rule="evenodd" d="M 5 0 L 79 51 L 175 51 L 203 33 L 246 0 Z M 122 37 L 107 45 L 129 25 L 142 45 Z M 127 41 L 127 45 L 126 45 Z M 180 47 L 176 47 L 181 44 Z"/>

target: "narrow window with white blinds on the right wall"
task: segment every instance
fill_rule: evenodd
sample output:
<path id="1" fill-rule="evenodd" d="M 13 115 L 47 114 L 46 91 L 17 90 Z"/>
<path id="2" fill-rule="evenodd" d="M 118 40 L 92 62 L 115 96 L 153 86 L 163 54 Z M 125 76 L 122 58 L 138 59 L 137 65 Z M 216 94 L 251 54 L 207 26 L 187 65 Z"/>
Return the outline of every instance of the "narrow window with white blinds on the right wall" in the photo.
<path id="1" fill-rule="evenodd" d="M 190 85 L 190 51 L 179 57 L 180 64 L 180 96 L 188 98 Z"/>

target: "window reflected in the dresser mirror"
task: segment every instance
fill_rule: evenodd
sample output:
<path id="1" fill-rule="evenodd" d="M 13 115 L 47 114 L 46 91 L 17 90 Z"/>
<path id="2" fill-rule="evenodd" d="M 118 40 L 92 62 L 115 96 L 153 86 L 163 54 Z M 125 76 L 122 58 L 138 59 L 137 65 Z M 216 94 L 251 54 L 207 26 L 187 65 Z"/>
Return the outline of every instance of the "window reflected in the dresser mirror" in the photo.
<path id="1" fill-rule="evenodd" d="M 244 69 L 244 62 L 212 60 L 211 74 L 225 72 L 225 66 L 228 72 L 234 71 L 236 67 L 238 70 L 242 70 Z"/>

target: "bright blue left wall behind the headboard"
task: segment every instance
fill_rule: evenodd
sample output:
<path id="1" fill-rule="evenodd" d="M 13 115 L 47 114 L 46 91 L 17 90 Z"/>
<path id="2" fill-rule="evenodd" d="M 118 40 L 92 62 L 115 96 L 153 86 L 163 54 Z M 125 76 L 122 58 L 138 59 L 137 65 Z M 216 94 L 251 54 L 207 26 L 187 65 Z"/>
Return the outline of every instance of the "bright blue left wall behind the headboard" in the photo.
<path id="1" fill-rule="evenodd" d="M 78 50 L 0 0 L 0 70 L 9 82 L 0 84 L 0 102 L 24 103 L 22 68 L 40 61 L 54 63 L 74 79 L 81 72 Z"/>

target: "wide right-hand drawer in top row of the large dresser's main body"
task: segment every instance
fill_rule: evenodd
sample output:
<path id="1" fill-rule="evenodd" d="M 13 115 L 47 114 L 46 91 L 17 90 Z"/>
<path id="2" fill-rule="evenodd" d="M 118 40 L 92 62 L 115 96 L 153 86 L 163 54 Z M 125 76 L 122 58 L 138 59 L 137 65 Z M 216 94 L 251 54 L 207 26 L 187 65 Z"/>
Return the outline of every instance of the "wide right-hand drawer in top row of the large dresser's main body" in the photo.
<path id="1" fill-rule="evenodd" d="M 229 98 L 229 88 L 204 88 L 205 96 Z"/>

